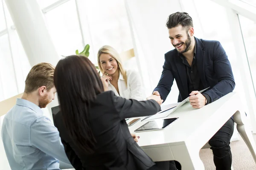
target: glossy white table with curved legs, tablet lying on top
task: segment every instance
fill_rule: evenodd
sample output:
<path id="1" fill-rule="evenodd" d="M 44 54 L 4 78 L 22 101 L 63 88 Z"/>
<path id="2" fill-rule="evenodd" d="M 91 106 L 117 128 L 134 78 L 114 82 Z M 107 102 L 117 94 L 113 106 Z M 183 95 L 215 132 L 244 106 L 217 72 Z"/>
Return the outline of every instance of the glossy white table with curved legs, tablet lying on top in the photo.
<path id="1" fill-rule="evenodd" d="M 176 160 L 180 162 L 183 170 L 204 170 L 204 164 L 199 157 L 200 149 L 232 115 L 237 123 L 237 130 L 256 162 L 256 146 L 251 131 L 244 125 L 245 113 L 241 108 L 239 95 L 235 92 L 200 109 L 194 109 L 189 102 L 186 103 L 168 116 L 179 119 L 166 129 L 137 132 L 140 136 L 138 144 L 153 161 Z M 130 132 L 134 133 L 135 129 L 146 122 L 135 123 L 129 127 Z"/>

